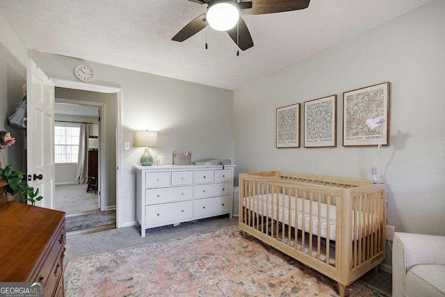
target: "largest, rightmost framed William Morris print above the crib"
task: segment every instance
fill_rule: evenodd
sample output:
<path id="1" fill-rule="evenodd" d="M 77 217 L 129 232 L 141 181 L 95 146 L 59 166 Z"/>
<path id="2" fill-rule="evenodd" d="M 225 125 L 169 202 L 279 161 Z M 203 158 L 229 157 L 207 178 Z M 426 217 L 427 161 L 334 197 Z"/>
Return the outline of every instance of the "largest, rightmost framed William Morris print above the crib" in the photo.
<path id="1" fill-rule="evenodd" d="M 389 144 L 389 93 L 389 82 L 343 93 L 343 146 Z"/>

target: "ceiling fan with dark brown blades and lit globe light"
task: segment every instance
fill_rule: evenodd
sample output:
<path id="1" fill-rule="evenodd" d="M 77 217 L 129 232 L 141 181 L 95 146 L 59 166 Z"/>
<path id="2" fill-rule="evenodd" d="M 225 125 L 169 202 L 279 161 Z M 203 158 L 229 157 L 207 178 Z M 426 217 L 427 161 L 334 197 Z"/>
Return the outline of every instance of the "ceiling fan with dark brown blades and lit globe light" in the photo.
<path id="1" fill-rule="evenodd" d="M 195 17 L 186 24 L 172 40 L 183 42 L 207 27 L 218 31 L 227 31 L 238 47 L 245 51 L 253 47 L 252 36 L 240 11 L 247 15 L 265 15 L 268 13 L 284 13 L 285 11 L 305 9 L 310 0 L 188 0 L 199 4 L 207 4 L 207 13 Z M 227 23 L 227 24 L 226 24 Z M 238 26 L 236 26 L 238 25 Z M 207 44 L 206 44 L 207 47 Z"/>

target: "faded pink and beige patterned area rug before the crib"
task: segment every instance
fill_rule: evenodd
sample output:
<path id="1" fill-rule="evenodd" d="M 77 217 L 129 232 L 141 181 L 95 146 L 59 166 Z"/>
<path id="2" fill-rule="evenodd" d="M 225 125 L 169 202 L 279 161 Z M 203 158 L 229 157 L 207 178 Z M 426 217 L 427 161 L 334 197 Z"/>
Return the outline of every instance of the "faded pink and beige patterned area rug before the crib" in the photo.
<path id="1" fill-rule="evenodd" d="M 388 296 L 357 280 L 348 296 Z M 65 296 L 339 296 L 337 282 L 238 227 L 72 259 Z"/>

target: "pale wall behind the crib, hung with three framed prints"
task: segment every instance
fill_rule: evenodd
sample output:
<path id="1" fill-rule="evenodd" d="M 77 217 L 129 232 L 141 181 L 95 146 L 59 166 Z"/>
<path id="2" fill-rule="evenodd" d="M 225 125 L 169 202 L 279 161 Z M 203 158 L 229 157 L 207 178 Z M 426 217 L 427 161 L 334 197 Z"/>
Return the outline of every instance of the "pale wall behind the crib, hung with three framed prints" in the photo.
<path id="1" fill-rule="evenodd" d="M 236 90 L 236 172 L 371 179 L 375 147 L 341 146 L 343 92 L 390 81 L 388 216 L 396 231 L 445 235 L 444 78 L 445 1 L 435 1 Z M 277 107 L 334 94 L 337 148 L 275 148 Z"/>

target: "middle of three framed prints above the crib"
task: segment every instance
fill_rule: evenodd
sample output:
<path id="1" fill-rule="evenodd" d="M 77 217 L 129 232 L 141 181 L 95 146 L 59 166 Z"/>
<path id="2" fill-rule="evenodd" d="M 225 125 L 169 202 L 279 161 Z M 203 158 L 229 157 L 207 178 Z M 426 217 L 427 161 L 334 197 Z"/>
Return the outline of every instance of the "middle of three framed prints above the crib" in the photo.
<path id="1" fill-rule="evenodd" d="M 305 147 L 337 146 L 337 95 L 303 104 Z"/>

